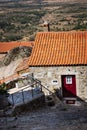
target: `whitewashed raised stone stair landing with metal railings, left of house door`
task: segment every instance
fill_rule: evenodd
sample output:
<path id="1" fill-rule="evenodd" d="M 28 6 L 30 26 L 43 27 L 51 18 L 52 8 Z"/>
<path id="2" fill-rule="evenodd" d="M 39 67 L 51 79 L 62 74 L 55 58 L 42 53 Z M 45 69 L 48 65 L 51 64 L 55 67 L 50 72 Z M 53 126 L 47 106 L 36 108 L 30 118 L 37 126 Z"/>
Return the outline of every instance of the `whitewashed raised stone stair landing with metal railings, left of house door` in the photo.
<path id="1" fill-rule="evenodd" d="M 48 91 L 48 95 L 44 95 L 43 89 Z M 44 99 L 45 98 L 45 99 Z M 47 106 L 54 106 L 58 101 L 56 94 L 54 94 L 49 88 L 43 86 L 41 81 L 33 78 L 33 83 L 30 85 L 26 85 L 22 88 L 13 88 L 9 90 L 8 101 L 11 104 L 10 109 L 8 109 L 5 113 L 7 115 L 11 115 L 16 108 L 21 111 L 22 108 L 28 107 L 28 109 L 33 109 L 34 107 L 31 105 L 36 103 L 36 106 L 42 100 L 42 104 Z M 28 104 L 28 105 L 27 105 Z M 21 109 L 20 109 L 21 108 Z"/>

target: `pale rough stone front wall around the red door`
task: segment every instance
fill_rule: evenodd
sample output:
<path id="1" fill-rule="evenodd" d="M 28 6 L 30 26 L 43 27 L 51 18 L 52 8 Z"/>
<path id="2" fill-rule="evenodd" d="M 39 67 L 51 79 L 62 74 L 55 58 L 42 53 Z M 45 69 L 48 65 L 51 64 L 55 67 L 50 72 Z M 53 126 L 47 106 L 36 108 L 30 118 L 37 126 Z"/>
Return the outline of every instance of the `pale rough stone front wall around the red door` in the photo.
<path id="1" fill-rule="evenodd" d="M 61 96 L 61 76 L 75 75 L 77 97 L 87 101 L 87 66 L 30 67 L 30 72 L 50 90 L 59 89 Z"/>

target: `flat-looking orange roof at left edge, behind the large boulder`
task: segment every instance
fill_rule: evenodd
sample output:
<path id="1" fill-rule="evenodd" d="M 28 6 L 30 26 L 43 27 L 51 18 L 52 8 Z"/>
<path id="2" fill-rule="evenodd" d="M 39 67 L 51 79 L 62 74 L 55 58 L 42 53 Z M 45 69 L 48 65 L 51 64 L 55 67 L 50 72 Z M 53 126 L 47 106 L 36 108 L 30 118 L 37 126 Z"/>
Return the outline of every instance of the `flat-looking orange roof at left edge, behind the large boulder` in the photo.
<path id="1" fill-rule="evenodd" d="M 19 47 L 19 46 L 30 46 L 32 47 L 34 45 L 34 42 L 0 42 L 0 53 L 5 53 L 10 51 L 13 48 Z"/>

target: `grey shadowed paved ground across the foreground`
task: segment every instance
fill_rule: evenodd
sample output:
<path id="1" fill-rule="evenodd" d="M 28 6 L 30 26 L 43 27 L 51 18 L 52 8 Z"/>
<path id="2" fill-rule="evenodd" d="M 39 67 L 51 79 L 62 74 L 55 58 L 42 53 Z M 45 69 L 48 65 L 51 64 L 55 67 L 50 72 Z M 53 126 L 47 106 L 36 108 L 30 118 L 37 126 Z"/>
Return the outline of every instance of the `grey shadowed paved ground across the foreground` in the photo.
<path id="1" fill-rule="evenodd" d="M 15 117 L 1 117 L 0 130 L 87 130 L 87 105 L 45 107 Z"/>

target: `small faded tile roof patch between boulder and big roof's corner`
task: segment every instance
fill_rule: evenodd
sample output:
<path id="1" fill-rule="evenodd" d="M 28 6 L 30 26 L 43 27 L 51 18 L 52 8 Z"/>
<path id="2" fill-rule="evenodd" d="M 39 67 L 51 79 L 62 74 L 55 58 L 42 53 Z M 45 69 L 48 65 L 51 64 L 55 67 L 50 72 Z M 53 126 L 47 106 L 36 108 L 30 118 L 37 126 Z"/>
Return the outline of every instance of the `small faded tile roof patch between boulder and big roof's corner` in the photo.
<path id="1" fill-rule="evenodd" d="M 28 65 L 28 60 L 29 58 L 24 58 L 23 61 L 19 64 L 19 66 L 16 68 L 16 72 L 19 72 L 21 70 L 26 70 L 29 68 L 29 65 Z"/>

